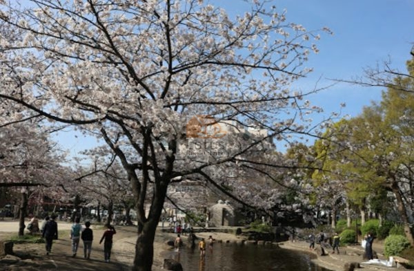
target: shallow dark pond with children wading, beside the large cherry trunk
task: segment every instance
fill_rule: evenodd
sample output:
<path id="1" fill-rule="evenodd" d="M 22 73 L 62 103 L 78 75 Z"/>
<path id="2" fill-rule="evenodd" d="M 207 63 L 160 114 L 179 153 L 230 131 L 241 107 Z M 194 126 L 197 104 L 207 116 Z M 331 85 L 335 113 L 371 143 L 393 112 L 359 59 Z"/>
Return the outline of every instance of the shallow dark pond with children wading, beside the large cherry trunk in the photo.
<path id="1" fill-rule="evenodd" d="M 215 243 L 204 257 L 197 247 L 183 247 L 168 256 L 179 261 L 184 271 L 328 271 L 312 263 L 311 254 L 271 245 Z"/>

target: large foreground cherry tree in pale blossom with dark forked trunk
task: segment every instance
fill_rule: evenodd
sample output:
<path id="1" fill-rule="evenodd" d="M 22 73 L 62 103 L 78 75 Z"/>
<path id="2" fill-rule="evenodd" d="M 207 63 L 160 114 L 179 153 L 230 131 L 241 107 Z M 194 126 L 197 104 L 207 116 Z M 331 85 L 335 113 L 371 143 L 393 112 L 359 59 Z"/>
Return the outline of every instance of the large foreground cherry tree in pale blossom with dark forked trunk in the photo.
<path id="1" fill-rule="evenodd" d="M 237 16 L 202 0 L 1 2 L 17 38 L 0 37 L 0 97 L 100 137 L 116 154 L 137 200 L 133 270 L 151 270 L 172 180 L 195 176 L 244 201 L 249 187 L 232 194 L 239 178 L 221 184 L 223 170 L 269 176 L 284 161 L 268 142 L 317 132 L 307 116 L 319 109 L 304 100 L 317 89 L 291 84 L 311 72 L 304 63 L 328 29 L 288 23 L 266 1 Z M 233 128 L 221 131 L 223 123 Z M 246 129 L 267 132 L 249 138 Z"/>

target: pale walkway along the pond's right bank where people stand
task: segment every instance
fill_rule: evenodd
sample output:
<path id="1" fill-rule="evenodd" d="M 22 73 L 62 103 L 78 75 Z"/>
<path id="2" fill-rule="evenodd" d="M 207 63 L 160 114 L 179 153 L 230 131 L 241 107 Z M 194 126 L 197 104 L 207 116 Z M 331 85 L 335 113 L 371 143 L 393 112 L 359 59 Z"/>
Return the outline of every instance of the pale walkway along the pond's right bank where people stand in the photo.
<path id="1" fill-rule="evenodd" d="M 343 271 L 344 265 L 346 263 L 359 263 L 361 268 L 363 270 L 405 270 L 402 266 L 399 268 L 391 268 L 386 267 L 384 265 L 368 265 L 368 264 L 362 264 L 366 260 L 362 259 L 362 256 L 364 255 L 364 249 L 360 245 L 348 245 L 346 247 L 339 247 L 339 254 L 333 254 L 331 250 L 326 250 L 328 252 L 325 256 L 320 256 L 317 254 L 317 250 L 309 250 L 309 243 L 306 243 L 305 241 L 295 241 L 290 242 L 286 241 L 283 243 L 279 243 L 280 247 L 284 247 L 289 250 L 299 250 L 302 252 L 308 252 L 315 254 L 315 259 L 313 260 L 317 265 L 320 265 L 326 269 L 334 270 L 334 271 Z M 317 247 L 317 245 L 315 245 Z M 373 243 L 373 250 L 377 252 L 378 259 L 380 260 L 388 260 L 385 259 L 385 256 L 383 254 L 384 248 L 383 244 L 379 242 Z M 359 268 L 358 268 L 359 269 Z M 357 269 L 357 270 L 358 270 Z"/>

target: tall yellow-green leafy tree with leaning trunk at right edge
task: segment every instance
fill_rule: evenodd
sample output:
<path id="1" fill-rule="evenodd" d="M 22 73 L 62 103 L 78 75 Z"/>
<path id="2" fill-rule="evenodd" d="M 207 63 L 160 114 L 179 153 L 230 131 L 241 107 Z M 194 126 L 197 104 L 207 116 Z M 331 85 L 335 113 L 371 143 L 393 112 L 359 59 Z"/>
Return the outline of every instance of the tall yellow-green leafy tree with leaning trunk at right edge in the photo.
<path id="1" fill-rule="evenodd" d="M 414 245 L 414 233 L 410 227 L 414 219 L 414 60 L 409 60 L 406 66 L 407 72 L 404 73 L 385 63 L 383 69 L 368 69 L 368 80 L 354 82 L 366 86 L 383 86 L 386 91 L 381 104 L 364 109 L 358 118 L 361 125 L 354 130 L 353 136 L 359 134 L 359 144 L 364 145 L 363 151 L 359 152 L 360 158 L 363 158 L 359 160 L 362 161 L 359 162 L 359 167 L 365 167 L 366 176 L 371 176 L 365 180 L 371 180 L 371 189 L 382 187 L 393 193 L 405 234 Z"/>

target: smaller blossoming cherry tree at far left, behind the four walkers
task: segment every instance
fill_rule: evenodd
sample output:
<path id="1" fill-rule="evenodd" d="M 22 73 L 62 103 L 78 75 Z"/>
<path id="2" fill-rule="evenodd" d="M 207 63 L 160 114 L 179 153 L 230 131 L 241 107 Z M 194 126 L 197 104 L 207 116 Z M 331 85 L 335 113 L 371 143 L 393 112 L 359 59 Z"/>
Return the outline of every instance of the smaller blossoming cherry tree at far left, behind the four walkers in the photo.
<path id="1" fill-rule="evenodd" d="M 63 156 L 55 150 L 50 133 L 42 129 L 39 118 L 1 100 L 0 108 L 0 187 L 20 192 L 19 236 L 24 234 L 24 219 L 29 200 L 41 203 L 43 196 L 53 198 L 61 189 L 59 172 Z"/>

